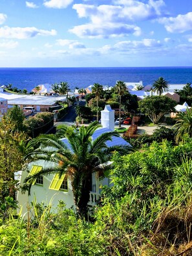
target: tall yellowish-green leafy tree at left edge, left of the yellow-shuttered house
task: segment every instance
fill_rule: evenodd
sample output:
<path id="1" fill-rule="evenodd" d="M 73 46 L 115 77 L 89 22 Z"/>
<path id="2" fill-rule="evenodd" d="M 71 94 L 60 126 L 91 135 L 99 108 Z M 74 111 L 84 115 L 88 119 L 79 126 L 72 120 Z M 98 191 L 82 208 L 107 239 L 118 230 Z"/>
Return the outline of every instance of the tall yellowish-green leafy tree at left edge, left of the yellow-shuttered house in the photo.
<path id="1" fill-rule="evenodd" d="M 23 160 L 23 145 L 27 141 L 24 133 L 13 130 L 13 123 L 6 115 L 0 122 L 0 218 L 8 215 L 8 209 L 16 205 L 18 180 L 14 173 L 21 170 Z"/>

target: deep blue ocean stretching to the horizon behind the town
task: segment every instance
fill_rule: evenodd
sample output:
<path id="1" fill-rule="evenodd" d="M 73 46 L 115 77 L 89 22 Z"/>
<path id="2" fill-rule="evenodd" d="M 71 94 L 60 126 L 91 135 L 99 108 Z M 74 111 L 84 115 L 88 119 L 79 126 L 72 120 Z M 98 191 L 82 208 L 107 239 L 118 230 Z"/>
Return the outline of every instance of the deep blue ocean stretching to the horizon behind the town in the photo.
<path id="1" fill-rule="evenodd" d="M 67 81 L 70 89 L 94 83 L 114 86 L 116 81 L 139 82 L 144 86 L 162 76 L 169 83 L 192 83 L 192 67 L 98 67 L 98 68 L 0 68 L 0 85 L 31 91 L 44 83 Z"/>

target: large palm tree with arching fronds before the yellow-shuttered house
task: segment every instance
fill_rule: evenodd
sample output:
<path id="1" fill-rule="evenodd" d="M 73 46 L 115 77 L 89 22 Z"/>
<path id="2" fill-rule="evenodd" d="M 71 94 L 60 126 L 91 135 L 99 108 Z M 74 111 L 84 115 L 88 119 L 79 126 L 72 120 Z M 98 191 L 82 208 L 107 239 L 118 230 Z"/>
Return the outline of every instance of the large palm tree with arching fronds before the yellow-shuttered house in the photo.
<path id="1" fill-rule="evenodd" d="M 87 219 L 91 177 L 92 173 L 102 171 L 109 161 L 112 152 L 127 153 L 130 147 L 112 146 L 107 147 L 106 142 L 111 140 L 112 136 L 118 137 L 118 133 L 111 131 L 103 133 L 96 140 L 92 140 L 92 134 L 101 127 L 98 122 L 93 122 L 89 126 L 81 126 L 78 131 L 74 127 L 62 125 L 56 134 L 42 134 L 32 139 L 28 148 L 33 148 L 26 158 L 33 162 L 34 160 L 45 160 L 50 163 L 50 167 L 43 167 L 39 173 L 30 175 L 25 179 L 25 189 L 30 189 L 32 182 L 42 175 L 50 173 L 67 174 L 70 176 L 74 203 L 81 217 Z M 67 138 L 68 145 L 61 140 Z M 55 164 L 55 167 L 51 167 Z"/>

